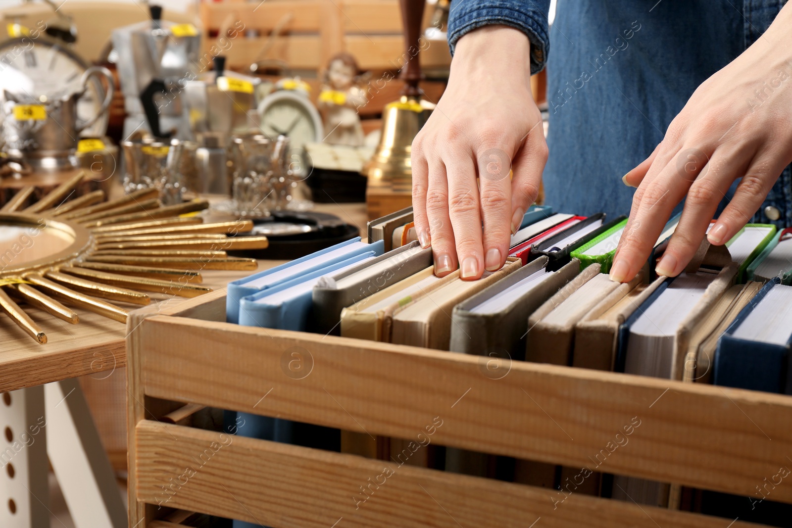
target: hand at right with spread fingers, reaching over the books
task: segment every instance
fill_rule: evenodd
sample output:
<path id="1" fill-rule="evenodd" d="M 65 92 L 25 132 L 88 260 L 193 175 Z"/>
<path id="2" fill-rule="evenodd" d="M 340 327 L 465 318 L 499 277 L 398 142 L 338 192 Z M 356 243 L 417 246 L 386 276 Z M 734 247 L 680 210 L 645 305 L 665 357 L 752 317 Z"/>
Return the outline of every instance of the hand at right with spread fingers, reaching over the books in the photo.
<path id="1" fill-rule="evenodd" d="M 695 255 L 718 203 L 737 178 L 731 202 L 707 236 L 725 244 L 756 210 L 792 161 L 792 6 L 728 66 L 703 82 L 651 156 L 624 182 L 638 187 L 611 279 L 642 268 L 677 203 L 687 200 L 658 275 L 674 276 Z"/>

